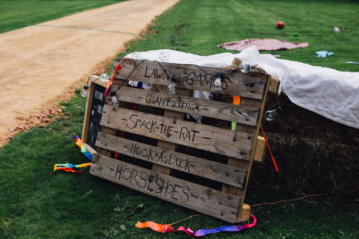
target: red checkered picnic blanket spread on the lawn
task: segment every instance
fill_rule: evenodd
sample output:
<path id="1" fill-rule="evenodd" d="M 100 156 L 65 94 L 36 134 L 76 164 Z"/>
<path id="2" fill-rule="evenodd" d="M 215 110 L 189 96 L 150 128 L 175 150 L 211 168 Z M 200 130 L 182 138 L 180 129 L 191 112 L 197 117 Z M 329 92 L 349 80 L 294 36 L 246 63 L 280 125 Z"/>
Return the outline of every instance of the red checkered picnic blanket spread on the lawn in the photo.
<path id="1" fill-rule="evenodd" d="M 222 47 L 227 50 L 236 50 L 243 51 L 247 47 L 257 47 L 258 51 L 275 51 L 275 50 L 285 50 L 285 49 L 294 49 L 301 47 L 308 47 L 308 42 L 287 42 L 285 40 L 277 40 L 271 38 L 265 39 L 245 39 L 240 40 L 239 42 L 228 42 L 219 44 L 217 47 Z"/>

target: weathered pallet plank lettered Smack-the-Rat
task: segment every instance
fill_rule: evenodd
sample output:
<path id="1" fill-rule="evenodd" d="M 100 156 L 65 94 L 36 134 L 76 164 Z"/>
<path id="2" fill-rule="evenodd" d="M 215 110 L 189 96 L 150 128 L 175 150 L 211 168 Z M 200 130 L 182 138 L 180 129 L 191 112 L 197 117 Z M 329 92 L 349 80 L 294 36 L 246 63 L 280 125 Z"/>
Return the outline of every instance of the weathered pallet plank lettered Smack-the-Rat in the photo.
<path id="1" fill-rule="evenodd" d="M 253 140 L 250 133 L 108 105 L 104 106 L 101 125 L 245 160 L 249 158 Z"/>

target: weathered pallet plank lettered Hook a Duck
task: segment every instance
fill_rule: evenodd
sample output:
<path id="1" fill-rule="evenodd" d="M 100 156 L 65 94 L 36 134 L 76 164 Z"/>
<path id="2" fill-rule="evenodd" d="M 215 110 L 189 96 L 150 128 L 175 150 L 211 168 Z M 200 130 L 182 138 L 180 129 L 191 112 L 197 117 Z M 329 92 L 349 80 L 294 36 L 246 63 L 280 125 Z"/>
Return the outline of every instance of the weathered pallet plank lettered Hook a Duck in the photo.
<path id="1" fill-rule="evenodd" d="M 242 187 L 247 175 L 241 168 L 103 133 L 98 133 L 96 146 L 236 187 Z"/>

